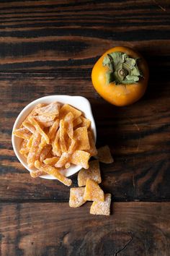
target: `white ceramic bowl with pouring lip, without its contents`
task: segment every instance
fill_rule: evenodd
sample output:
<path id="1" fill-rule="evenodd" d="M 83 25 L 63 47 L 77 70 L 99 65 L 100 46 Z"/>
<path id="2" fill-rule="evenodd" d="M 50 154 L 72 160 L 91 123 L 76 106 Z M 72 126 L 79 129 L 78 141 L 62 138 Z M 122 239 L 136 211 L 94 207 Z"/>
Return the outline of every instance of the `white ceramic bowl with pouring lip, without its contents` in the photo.
<path id="1" fill-rule="evenodd" d="M 19 153 L 19 149 L 20 149 L 20 143 L 22 141 L 22 139 L 20 139 L 19 137 L 16 137 L 13 135 L 13 131 L 14 129 L 19 128 L 19 126 L 22 124 L 22 121 L 24 121 L 24 119 L 27 117 L 28 114 L 30 114 L 30 111 L 32 111 L 33 108 L 35 108 L 35 106 L 38 103 L 52 103 L 54 101 L 58 101 L 60 103 L 68 103 L 71 106 L 78 108 L 80 111 L 82 111 L 84 113 L 84 116 L 86 116 L 87 119 L 89 119 L 91 121 L 91 129 L 94 132 L 94 138 L 96 140 L 97 137 L 97 131 L 96 131 L 96 125 L 94 122 L 94 117 L 93 114 L 91 112 L 91 105 L 89 103 L 89 101 L 81 96 L 68 96 L 68 95 L 51 95 L 51 96 L 45 96 L 42 98 L 38 98 L 35 101 L 32 101 L 30 104 L 28 104 L 19 114 L 19 116 L 17 117 L 16 121 L 14 122 L 14 127 L 12 129 L 12 146 L 14 148 L 14 153 L 15 155 L 17 155 L 18 160 L 20 161 L 20 163 L 22 163 L 22 165 L 27 168 L 28 171 L 32 171 L 32 169 L 30 169 L 27 166 L 27 161 L 24 158 L 23 155 L 21 155 Z M 73 174 L 76 174 L 77 171 L 79 171 L 81 169 L 81 166 L 71 166 L 70 168 L 64 170 L 64 174 L 66 176 L 71 176 Z M 56 179 L 54 176 L 51 175 L 42 175 L 40 176 L 41 178 L 45 178 L 45 179 Z"/>

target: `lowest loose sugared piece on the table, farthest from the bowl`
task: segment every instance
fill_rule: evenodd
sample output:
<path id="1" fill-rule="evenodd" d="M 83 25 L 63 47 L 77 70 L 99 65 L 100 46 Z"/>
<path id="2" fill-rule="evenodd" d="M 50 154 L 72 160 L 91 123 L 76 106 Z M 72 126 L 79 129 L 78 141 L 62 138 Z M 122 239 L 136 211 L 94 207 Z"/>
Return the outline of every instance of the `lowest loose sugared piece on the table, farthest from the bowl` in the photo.
<path id="1" fill-rule="evenodd" d="M 95 201 L 92 203 L 90 213 L 95 215 L 110 215 L 111 194 L 104 195 L 104 202 Z"/>

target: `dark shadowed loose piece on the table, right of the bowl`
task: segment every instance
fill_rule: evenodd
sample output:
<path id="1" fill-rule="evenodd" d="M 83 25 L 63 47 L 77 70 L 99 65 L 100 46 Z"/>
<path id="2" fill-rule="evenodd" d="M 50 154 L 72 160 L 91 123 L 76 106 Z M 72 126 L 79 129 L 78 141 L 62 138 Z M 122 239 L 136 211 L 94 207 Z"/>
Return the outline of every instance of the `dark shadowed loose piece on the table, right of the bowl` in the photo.
<path id="1" fill-rule="evenodd" d="M 97 153 L 97 156 L 95 156 L 95 158 L 97 158 L 99 162 L 113 163 L 114 160 L 112 158 L 108 145 L 105 145 L 102 148 L 98 148 L 97 151 L 98 153 Z"/>

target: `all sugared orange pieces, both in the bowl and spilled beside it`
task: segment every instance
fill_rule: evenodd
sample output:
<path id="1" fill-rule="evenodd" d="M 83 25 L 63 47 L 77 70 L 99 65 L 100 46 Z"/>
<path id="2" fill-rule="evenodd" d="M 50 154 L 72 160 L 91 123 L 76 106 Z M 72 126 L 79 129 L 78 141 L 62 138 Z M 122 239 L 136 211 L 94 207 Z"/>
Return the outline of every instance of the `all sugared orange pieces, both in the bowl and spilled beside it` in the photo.
<path id="1" fill-rule="evenodd" d="M 110 214 L 111 194 L 104 195 L 99 187 L 99 161 L 112 163 L 112 155 L 108 146 L 96 149 L 91 121 L 81 111 L 58 102 L 38 104 L 14 135 L 22 138 L 19 153 L 26 158 L 33 178 L 50 174 L 71 186 L 72 181 L 63 175 L 63 170 L 79 165 L 79 187 L 71 188 L 69 205 L 76 208 L 93 201 L 91 214 Z M 89 163 L 91 156 L 97 160 Z"/>

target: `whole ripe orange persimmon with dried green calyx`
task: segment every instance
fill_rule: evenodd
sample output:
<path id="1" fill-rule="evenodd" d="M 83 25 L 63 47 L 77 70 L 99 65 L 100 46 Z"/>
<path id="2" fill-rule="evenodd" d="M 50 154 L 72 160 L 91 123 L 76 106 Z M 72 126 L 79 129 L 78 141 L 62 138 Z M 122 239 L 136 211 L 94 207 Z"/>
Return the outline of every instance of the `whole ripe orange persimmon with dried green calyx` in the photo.
<path id="1" fill-rule="evenodd" d="M 91 80 L 99 95 L 116 106 L 138 101 L 148 85 L 148 64 L 131 48 L 117 46 L 94 64 Z"/>

